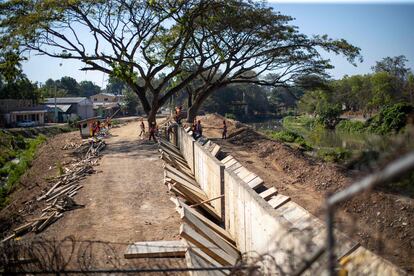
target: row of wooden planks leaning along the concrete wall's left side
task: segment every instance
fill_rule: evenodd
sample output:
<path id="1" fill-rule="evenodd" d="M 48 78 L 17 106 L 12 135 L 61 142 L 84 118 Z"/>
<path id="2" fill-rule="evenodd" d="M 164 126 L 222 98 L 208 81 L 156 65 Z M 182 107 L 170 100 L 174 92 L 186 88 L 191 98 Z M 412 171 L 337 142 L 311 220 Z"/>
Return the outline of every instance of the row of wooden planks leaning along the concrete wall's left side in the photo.
<path id="1" fill-rule="evenodd" d="M 179 149 L 164 140 L 160 140 L 159 144 L 161 158 L 164 160 L 165 184 L 175 194 L 171 200 L 176 204 L 182 220 L 180 236 L 181 242 L 186 244 L 184 255 L 187 265 L 208 268 L 235 265 L 240 258 L 240 252 L 230 234 L 214 222 L 220 221 L 220 217 L 210 204 L 211 201 L 224 195 L 209 199 L 194 179 Z M 213 155 L 219 152 L 218 146 L 211 142 L 207 142 L 205 147 L 209 147 Z M 146 250 L 141 249 L 141 251 Z M 182 251 L 173 254 L 182 254 Z M 194 271 L 191 274 L 226 275 L 228 273 L 229 271 L 213 270 Z"/>

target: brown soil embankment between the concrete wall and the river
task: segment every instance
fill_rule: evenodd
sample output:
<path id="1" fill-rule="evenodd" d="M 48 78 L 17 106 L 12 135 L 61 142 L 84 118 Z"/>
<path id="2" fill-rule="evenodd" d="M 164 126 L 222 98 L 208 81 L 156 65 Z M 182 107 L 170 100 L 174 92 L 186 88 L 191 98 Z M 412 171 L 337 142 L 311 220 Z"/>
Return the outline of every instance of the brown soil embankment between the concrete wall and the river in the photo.
<path id="1" fill-rule="evenodd" d="M 222 151 L 259 175 L 267 187 L 276 187 L 321 220 L 324 220 L 326 195 L 355 180 L 335 164 L 308 157 L 238 122 L 226 120 L 229 138 L 222 140 L 221 116 L 206 115 L 198 119 L 203 124 L 203 135 L 219 144 Z M 336 218 L 339 230 L 414 272 L 414 199 L 374 190 L 343 204 Z"/>

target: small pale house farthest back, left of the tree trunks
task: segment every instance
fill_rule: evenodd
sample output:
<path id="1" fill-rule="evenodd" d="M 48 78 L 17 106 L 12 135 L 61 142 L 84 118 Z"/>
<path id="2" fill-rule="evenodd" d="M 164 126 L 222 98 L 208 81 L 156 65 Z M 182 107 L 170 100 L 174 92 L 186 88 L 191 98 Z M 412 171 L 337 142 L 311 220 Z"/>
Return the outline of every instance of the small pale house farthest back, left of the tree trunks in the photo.
<path id="1" fill-rule="evenodd" d="M 121 96 L 111 93 L 99 93 L 90 97 L 95 116 L 110 117 L 121 107 Z"/>

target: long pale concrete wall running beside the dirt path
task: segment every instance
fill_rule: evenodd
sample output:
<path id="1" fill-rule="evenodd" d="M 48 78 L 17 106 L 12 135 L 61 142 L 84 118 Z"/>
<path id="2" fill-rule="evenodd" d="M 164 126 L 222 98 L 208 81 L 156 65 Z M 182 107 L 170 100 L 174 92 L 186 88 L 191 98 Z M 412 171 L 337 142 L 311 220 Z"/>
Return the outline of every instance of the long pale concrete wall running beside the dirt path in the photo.
<path id="1" fill-rule="evenodd" d="M 182 128 L 179 128 L 178 140 L 181 152 L 190 166 L 193 160 L 196 181 L 208 197 L 225 195 L 222 200 L 213 201 L 212 205 L 218 214 L 221 214 L 225 229 L 236 241 L 238 249 L 250 257 L 258 257 L 256 260 L 263 263 L 269 269 L 269 273 L 292 273 L 325 245 L 326 228 L 318 218 L 294 202 L 273 209 L 237 174 L 224 169 L 224 165 L 208 149 L 194 142 Z M 335 254 L 338 258 L 346 256 L 358 246 L 339 231 L 335 231 L 334 234 Z M 386 271 L 400 272 L 391 263 L 386 263 L 375 254 L 372 255 L 382 266 L 387 267 Z M 364 263 L 371 263 L 370 259 L 373 257 L 370 256 Z M 326 261 L 327 257 L 324 254 L 304 275 L 326 273 Z M 355 267 L 348 269 L 353 272 L 360 271 Z"/>

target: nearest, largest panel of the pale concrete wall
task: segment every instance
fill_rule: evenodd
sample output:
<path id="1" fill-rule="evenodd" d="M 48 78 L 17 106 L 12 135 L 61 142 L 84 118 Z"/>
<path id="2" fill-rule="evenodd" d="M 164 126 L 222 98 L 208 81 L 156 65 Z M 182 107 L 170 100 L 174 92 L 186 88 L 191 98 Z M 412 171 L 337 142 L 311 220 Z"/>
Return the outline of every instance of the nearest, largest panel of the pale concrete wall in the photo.
<path id="1" fill-rule="evenodd" d="M 273 273 L 291 273 L 317 246 L 236 174 L 225 170 L 225 227 L 241 252 L 267 255 Z M 319 265 L 315 264 L 315 269 Z"/>

